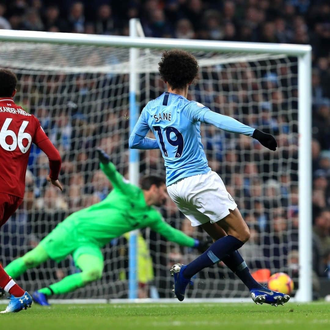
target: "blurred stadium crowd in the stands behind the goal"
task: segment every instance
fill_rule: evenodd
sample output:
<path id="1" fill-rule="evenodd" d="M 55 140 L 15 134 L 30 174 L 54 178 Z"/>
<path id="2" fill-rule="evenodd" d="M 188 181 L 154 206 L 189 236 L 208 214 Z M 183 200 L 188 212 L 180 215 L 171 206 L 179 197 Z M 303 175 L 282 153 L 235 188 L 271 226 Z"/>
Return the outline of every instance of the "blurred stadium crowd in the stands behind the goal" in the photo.
<path id="1" fill-rule="evenodd" d="M 129 0 L 129 1 L 42 1 L 10 0 L 0 2 L 0 28 L 51 32 L 89 34 L 128 34 L 128 20 L 139 17 L 148 37 L 173 37 L 184 39 L 211 39 L 225 41 L 251 41 L 266 43 L 311 44 L 313 47 L 313 270 L 314 291 L 318 278 L 330 279 L 330 5 L 322 0 Z M 271 67 L 280 65 L 280 72 L 262 72 L 253 65 L 236 68 L 236 76 L 225 72 L 211 73 L 201 69 L 201 82 L 192 89 L 189 97 L 209 106 L 211 110 L 235 116 L 245 123 L 268 131 L 276 136 L 279 150 L 275 156 L 260 149 L 256 143 L 241 136 L 205 128 L 204 146 L 213 170 L 218 172 L 234 196 L 250 226 L 251 239 L 242 248 L 242 254 L 253 270 L 269 268 L 281 270 L 296 278 L 298 272 L 298 190 L 297 190 L 297 85 L 294 61 L 268 62 Z M 231 69 L 228 65 L 226 68 Z M 260 75 L 260 76 L 258 76 Z M 35 76 L 38 77 L 38 76 Z M 212 86 L 205 81 L 211 77 Z M 242 78 L 243 77 L 243 78 Z M 37 86 L 37 78 L 18 76 L 20 88 L 31 93 L 29 83 Z M 127 174 L 127 102 L 111 103 L 118 111 L 104 105 L 98 115 L 88 114 L 80 104 L 95 97 L 100 85 L 122 85 L 126 88 L 127 77 L 74 76 L 75 85 L 67 91 L 72 95 L 61 109 L 47 101 L 41 106 L 42 97 L 48 93 L 60 94 L 58 87 L 63 77 L 46 82 L 44 91 L 32 89 L 30 100 L 23 100 L 23 107 L 41 121 L 49 138 L 63 155 L 62 181 L 67 187 L 65 194 L 47 187 L 47 159 L 33 149 L 27 175 L 26 199 L 16 216 L 1 233 L 1 255 L 16 257 L 26 248 L 36 244 L 65 215 L 102 200 L 111 185 L 98 170 L 93 148 L 102 146 L 113 156 L 114 163 Z M 26 79 L 26 82 L 22 80 Z M 29 82 L 29 79 L 34 79 Z M 40 77 L 38 77 L 40 79 Z M 249 94 L 250 85 L 261 79 L 263 94 Z M 115 82 L 114 82 L 115 80 Z M 231 94 L 226 82 L 236 80 L 236 91 Z M 249 82 L 249 83 L 248 83 Z M 232 82 L 231 82 L 232 83 Z M 63 83 L 64 84 L 64 83 Z M 203 84 L 203 85 L 201 85 Z M 228 83 L 229 84 L 229 83 Z M 155 78 L 151 85 L 154 95 L 162 92 L 162 85 Z M 25 87 L 24 87 L 25 86 Z M 159 87 L 160 86 L 160 87 Z M 258 87 L 258 86 L 257 86 Z M 55 89 L 54 89 L 55 88 Z M 57 89 L 56 89 L 57 88 Z M 63 87 L 64 88 L 64 87 Z M 71 88 L 71 89 L 70 89 Z M 62 90 L 64 91 L 64 89 Z M 93 92 L 94 91 L 94 92 Z M 203 92 L 202 92 L 203 91 Z M 206 92 L 205 92 L 206 91 Z M 112 93 L 120 94 L 120 87 Z M 94 93 L 94 94 L 93 94 Z M 93 96 L 94 95 L 94 96 Z M 102 95 L 106 98 L 105 95 Z M 125 98 L 126 96 L 123 96 Z M 126 97 L 127 98 L 127 97 Z M 142 98 L 143 99 L 143 98 Z M 127 100 L 126 100 L 127 101 Z M 118 103 L 118 102 L 117 102 Z M 239 108 L 238 104 L 244 104 Z M 107 106 L 109 108 L 107 108 Z M 143 105 L 142 105 L 143 106 Z M 28 109 L 30 108 L 30 109 Z M 52 112 L 53 111 L 53 112 Z M 95 110 L 96 111 L 96 110 Z M 119 132 L 108 134 L 108 132 Z M 123 132 L 123 133 L 121 133 Z M 291 134 L 290 134 L 291 133 Z M 123 146 L 125 140 L 125 146 Z M 231 143 L 230 141 L 235 141 Z M 225 147 L 226 146 L 226 147 Z M 164 174 L 158 150 L 142 153 L 141 172 L 149 169 Z M 258 165 L 256 165 L 258 164 Z M 160 171 L 161 170 L 161 171 Z M 160 171 L 160 172 L 159 172 Z M 190 226 L 168 201 L 162 210 L 173 226 L 192 236 L 202 235 Z M 30 234 L 27 236 L 26 232 Z M 38 236 L 39 235 L 39 236 Z M 157 234 L 150 234 L 150 250 L 155 261 L 163 267 L 155 267 L 155 274 L 166 278 L 167 263 L 171 258 L 186 262 L 187 256 L 166 243 L 157 243 Z M 117 244 L 117 242 L 114 242 Z M 14 247 L 14 248 L 13 248 Z M 170 253 L 166 254 L 166 252 Z M 115 253 L 115 252 L 111 252 Z M 119 253 L 119 252 L 118 252 Z M 117 254 L 118 254 L 117 253 Z M 121 253 L 121 252 L 120 252 Z M 120 254 L 119 253 L 119 254 Z M 119 256 L 116 255 L 116 259 Z M 125 259 L 125 258 L 124 258 Z M 120 260 L 120 258 L 118 259 Z M 8 260 L 3 260 L 4 263 Z M 109 266 L 110 267 L 110 266 Z M 111 265 L 114 267 L 114 265 Z M 112 268 L 114 271 L 114 268 Z M 221 274 L 221 266 L 219 267 Z M 36 276 L 36 275 L 35 275 Z M 40 277 L 42 275 L 38 275 Z M 60 277 L 60 269 L 52 276 Z M 203 277 L 203 275 L 201 275 Z M 206 275 L 204 275 L 206 276 Z M 221 278 L 221 276 L 220 276 Z M 115 279 L 115 276 L 114 276 Z M 158 283 L 165 288 L 165 283 Z M 163 295 L 168 295 L 164 290 Z"/>

